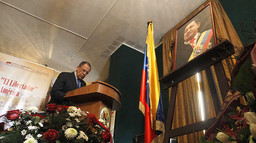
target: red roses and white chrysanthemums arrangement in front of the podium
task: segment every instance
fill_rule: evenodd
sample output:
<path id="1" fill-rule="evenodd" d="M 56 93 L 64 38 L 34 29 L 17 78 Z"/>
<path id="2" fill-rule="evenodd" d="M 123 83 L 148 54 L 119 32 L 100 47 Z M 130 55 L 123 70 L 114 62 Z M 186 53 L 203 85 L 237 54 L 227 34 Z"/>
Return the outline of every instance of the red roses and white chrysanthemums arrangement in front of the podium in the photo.
<path id="1" fill-rule="evenodd" d="M 96 116 L 76 107 L 48 104 L 46 112 L 37 107 L 8 111 L 0 123 L 0 143 L 102 143 L 111 134 L 96 124 Z M 8 123 L 13 125 L 6 129 Z M 105 121 L 101 121 L 106 125 Z"/>

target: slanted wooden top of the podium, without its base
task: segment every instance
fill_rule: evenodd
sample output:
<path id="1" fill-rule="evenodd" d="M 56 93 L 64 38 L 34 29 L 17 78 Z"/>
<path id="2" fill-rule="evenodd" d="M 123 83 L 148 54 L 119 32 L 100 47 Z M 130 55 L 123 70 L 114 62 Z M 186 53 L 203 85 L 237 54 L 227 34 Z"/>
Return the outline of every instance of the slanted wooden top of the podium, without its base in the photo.
<path id="1" fill-rule="evenodd" d="M 88 86 L 69 91 L 64 97 L 75 104 L 102 101 L 112 111 L 121 109 L 121 93 L 102 81 L 94 81 Z"/>

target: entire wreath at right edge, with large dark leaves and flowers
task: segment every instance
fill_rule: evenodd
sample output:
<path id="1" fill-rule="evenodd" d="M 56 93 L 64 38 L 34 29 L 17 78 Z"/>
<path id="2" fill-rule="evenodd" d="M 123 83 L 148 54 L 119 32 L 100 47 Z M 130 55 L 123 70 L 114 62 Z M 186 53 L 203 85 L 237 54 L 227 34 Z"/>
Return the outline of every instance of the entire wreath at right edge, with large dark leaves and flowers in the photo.
<path id="1" fill-rule="evenodd" d="M 210 136 L 201 136 L 200 143 L 256 143 L 255 47 L 256 42 L 244 47 L 230 80 L 231 91 L 239 91 L 246 105 L 240 104 L 240 99 L 230 102 L 220 127 Z"/>

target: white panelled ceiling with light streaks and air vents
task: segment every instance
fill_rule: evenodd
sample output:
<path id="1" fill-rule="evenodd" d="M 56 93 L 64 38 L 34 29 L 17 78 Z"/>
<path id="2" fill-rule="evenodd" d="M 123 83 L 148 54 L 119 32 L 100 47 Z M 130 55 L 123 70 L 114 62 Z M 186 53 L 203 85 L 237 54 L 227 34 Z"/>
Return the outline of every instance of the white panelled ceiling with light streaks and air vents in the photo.
<path id="1" fill-rule="evenodd" d="M 204 1 L 0 0 L 0 52 L 58 71 L 87 61 L 92 70 L 84 80 L 105 81 L 122 43 L 144 53 L 149 20 L 157 46 Z"/>

